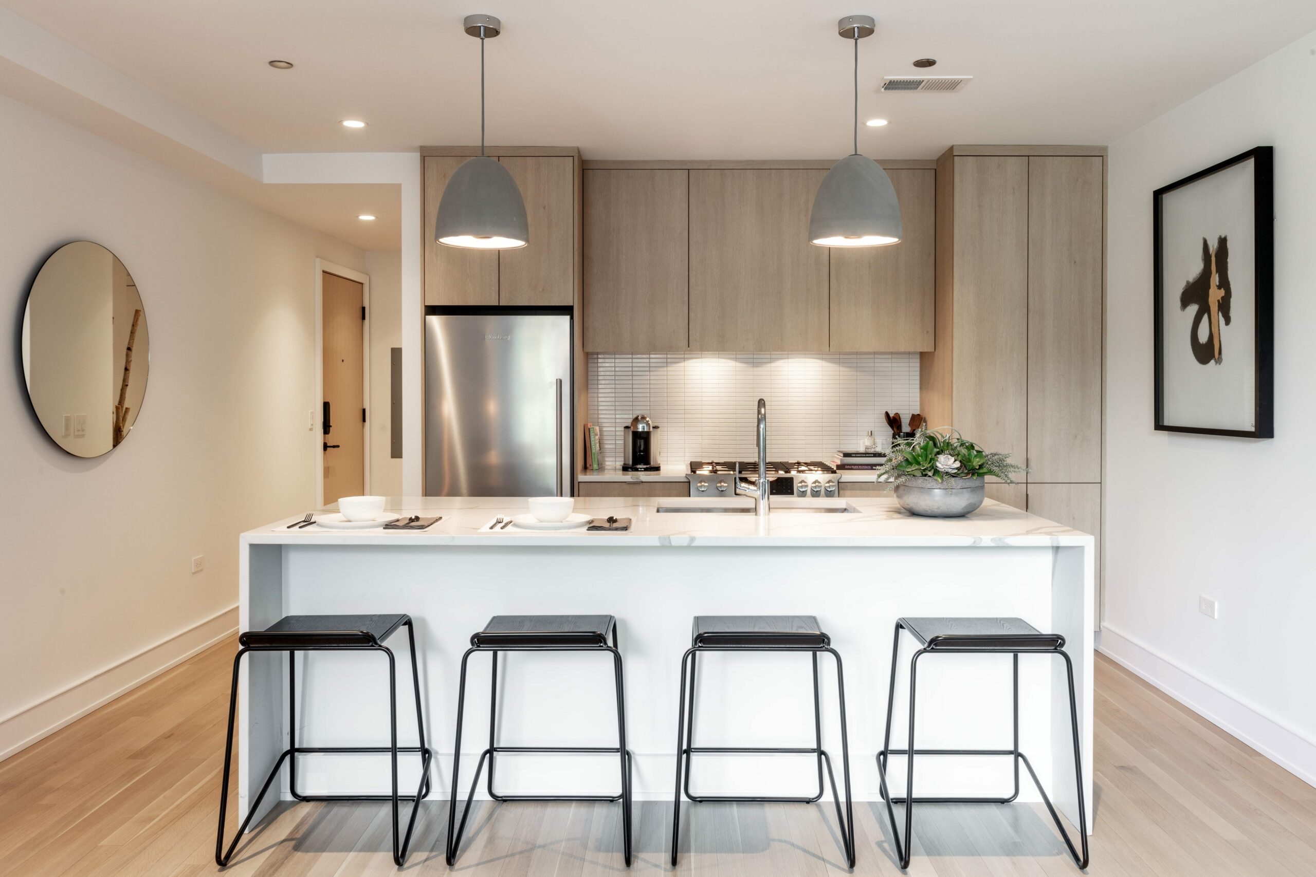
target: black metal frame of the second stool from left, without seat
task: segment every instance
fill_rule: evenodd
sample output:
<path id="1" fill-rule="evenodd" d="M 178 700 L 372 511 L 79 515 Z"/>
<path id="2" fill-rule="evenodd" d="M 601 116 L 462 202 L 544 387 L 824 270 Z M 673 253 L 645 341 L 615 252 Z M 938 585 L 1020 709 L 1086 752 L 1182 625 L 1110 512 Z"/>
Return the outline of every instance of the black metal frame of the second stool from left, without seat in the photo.
<path id="1" fill-rule="evenodd" d="M 483 631 L 482 631 L 483 632 Z M 483 632 L 484 636 L 496 638 L 497 632 Z M 475 634 L 471 636 L 471 647 L 462 655 L 462 673 L 457 693 L 457 740 L 453 744 L 453 790 L 447 809 L 447 849 L 446 860 L 449 866 L 457 864 L 457 851 L 462 843 L 462 834 L 466 831 L 466 819 L 471 815 L 471 802 L 475 799 L 475 789 L 480 784 L 480 772 L 484 761 L 488 760 L 487 790 L 490 798 L 497 802 L 516 801 L 582 801 L 582 802 L 621 802 L 621 844 L 622 857 L 626 868 L 630 866 L 630 805 L 632 805 L 632 761 L 633 756 L 626 748 L 626 709 L 625 709 L 625 682 L 621 669 L 621 652 L 617 638 L 617 625 L 612 626 L 612 643 L 600 638 L 596 644 L 571 646 L 478 646 Z M 579 638 L 579 632 L 541 632 L 541 636 Z M 491 684 L 490 684 L 490 744 L 480 752 L 475 763 L 475 776 L 471 778 L 471 789 L 466 795 L 466 807 L 462 810 L 462 820 L 457 822 L 457 777 L 462 755 L 462 723 L 466 713 L 466 667 L 471 655 L 490 652 Z M 497 744 L 497 653 L 499 652 L 609 652 L 612 655 L 615 690 L 617 697 L 617 746 L 499 746 Z M 541 755 L 617 755 L 621 759 L 621 793 L 615 795 L 500 795 L 494 792 L 494 763 L 500 752 L 508 753 L 541 753 Z"/>

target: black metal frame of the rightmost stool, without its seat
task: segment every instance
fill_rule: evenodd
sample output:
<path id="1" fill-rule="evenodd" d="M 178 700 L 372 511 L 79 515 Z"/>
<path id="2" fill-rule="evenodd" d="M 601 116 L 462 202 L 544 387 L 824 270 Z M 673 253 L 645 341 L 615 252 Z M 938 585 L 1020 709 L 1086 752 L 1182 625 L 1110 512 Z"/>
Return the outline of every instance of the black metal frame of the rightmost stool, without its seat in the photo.
<path id="1" fill-rule="evenodd" d="M 896 668 L 899 667 L 900 656 L 900 631 L 904 628 L 901 622 L 896 622 L 895 632 L 895 646 L 891 650 L 891 686 L 887 693 L 887 728 L 886 736 L 883 738 L 882 751 L 878 752 L 878 778 L 882 784 L 882 799 L 887 805 L 887 817 L 891 819 L 891 835 L 895 841 L 896 855 L 900 859 L 900 869 L 904 870 L 909 866 L 909 857 L 913 851 L 913 805 L 915 803 L 1012 803 L 1019 797 L 1019 763 L 1023 761 L 1024 767 L 1028 768 L 1028 774 L 1033 778 L 1033 785 L 1037 786 L 1037 792 L 1042 795 L 1042 802 L 1046 805 L 1046 810 L 1051 814 L 1051 819 L 1055 822 L 1057 831 L 1061 832 L 1061 838 L 1065 840 L 1065 845 L 1069 847 L 1070 857 L 1074 864 L 1079 866 L 1080 870 L 1087 868 L 1088 864 L 1088 849 L 1087 849 L 1087 813 L 1083 802 L 1083 755 L 1079 744 L 1078 734 L 1078 702 L 1074 694 L 1074 663 L 1070 656 L 1065 652 L 1065 638 L 1059 634 L 1020 634 L 1008 638 L 1001 638 L 999 644 L 982 644 L 988 642 L 980 635 L 957 635 L 957 634 L 942 634 L 938 636 L 932 636 L 928 639 L 928 644 L 913 653 L 909 660 L 909 743 L 913 747 L 913 734 L 915 734 L 915 696 L 917 694 L 917 672 L 919 672 L 919 659 L 924 655 L 933 652 L 937 653 L 987 653 L 987 655 L 1011 655 L 1013 657 L 1013 748 L 1009 749 L 913 749 L 913 755 L 995 755 L 995 756 L 1011 756 L 1015 767 L 1015 790 L 1008 798 L 990 798 L 990 797 L 976 797 L 976 798 L 954 798 L 954 797 L 926 797 L 926 798 L 911 798 L 913 794 L 913 756 L 909 753 L 909 748 L 905 749 L 892 749 L 891 748 L 891 721 L 892 711 L 896 699 Z M 975 644 L 978 643 L 978 644 Z M 1051 799 L 1046 794 L 1046 789 L 1042 788 L 1041 780 L 1037 778 L 1037 772 L 1033 770 L 1033 765 L 1029 763 L 1028 756 L 1024 755 L 1019 748 L 1019 656 L 1021 653 L 1041 653 L 1041 655 L 1059 655 L 1065 659 L 1066 677 L 1069 680 L 1069 694 L 1070 694 L 1070 724 L 1074 732 L 1074 774 L 1076 777 L 1078 785 L 1078 834 L 1079 844 L 1082 847 L 1082 853 L 1074 847 L 1074 841 L 1070 840 L 1070 835 L 1065 831 L 1065 826 L 1061 823 L 1061 817 L 1051 805 Z M 905 797 L 894 798 L 891 792 L 887 789 L 887 759 L 892 755 L 905 756 Z M 905 806 L 904 818 L 904 838 L 900 836 L 900 830 L 896 827 L 896 814 L 894 805 L 903 803 Z"/>

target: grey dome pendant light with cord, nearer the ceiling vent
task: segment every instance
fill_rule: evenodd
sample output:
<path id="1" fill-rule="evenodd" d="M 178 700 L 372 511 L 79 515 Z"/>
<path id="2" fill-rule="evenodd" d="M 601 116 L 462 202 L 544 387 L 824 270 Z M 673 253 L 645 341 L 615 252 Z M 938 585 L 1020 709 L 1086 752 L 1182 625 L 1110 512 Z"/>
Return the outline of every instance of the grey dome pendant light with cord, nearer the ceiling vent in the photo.
<path id="1" fill-rule="evenodd" d="M 809 242 L 820 247 L 878 247 L 900 242 L 900 202 L 882 166 L 859 155 L 859 41 L 873 34 L 873 16 L 846 16 L 837 32 L 854 41 L 854 153 L 822 178 L 809 216 Z"/>

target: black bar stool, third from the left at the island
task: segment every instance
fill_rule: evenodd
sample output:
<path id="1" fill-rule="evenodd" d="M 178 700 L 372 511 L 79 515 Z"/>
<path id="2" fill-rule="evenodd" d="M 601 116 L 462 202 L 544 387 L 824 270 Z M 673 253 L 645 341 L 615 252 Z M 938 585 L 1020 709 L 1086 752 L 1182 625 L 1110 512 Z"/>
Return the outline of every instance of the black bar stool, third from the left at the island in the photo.
<path id="1" fill-rule="evenodd" d="M 694 746 L 695 739 L 695 671 L 701 652 L 808 652 L 813 660 L 813 734 L 812 747 L 707 747 Z M 819 652 L 836 659 L 836 692 L 841 711 L 841 773 L 845 778 L 845 809 L 837 794 L 832 757 L 822 748 L 822 709 L 819 696 Z M 686 714 L 687 665 L 690 678 L 690 714 Z M 690 790 L 690 761 L 692 755 L 812 755 L 817 759 L 819 790 L 812 797 L 772 798 L 738 795 L 696 795 Z M 684 760 L 684 773 L 682 761 Z M 694 802 L 738 801 L 754 803 L 813 803 L 822 797 L 822 768 L 832 784 L 836 817 L 840 823 L 841 844 L 846 863 L 854 868 L 854 806 L 850 801 L 850 744 L 845 731 L 845 677 L 841 656 L 832 648 L 832 638 L 822 632 L 813 615 L 699 615 L 691 634 L 691 647 L 680 661 L 680 707 L 676 718 L 676 792 L 671 815 L 671 865 L 676 866 L 676 844 L 680 839 L 680 795 Z"/>

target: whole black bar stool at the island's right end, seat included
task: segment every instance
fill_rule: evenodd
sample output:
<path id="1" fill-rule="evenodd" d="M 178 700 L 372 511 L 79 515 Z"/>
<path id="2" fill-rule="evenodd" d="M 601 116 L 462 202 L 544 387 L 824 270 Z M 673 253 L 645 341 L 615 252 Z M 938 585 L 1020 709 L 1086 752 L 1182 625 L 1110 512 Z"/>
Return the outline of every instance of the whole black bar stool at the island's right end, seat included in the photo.
<path id="1" fill-rule="evenodd" d="M 900 656 L 900 631 L 908 630 L 917 639 L 923 648 L 913 653 L 909 660 L 909 743 L 907 749 L 891 748 L 891 713 L 896 697 L 896 664 Z M 919 659 L 930 653 L 994 653 L 1013 656 L 1015 678 L 1015 746 L 1009 749 L 913 749 L 913 755 L 998 755 L 1011 756 L 1015 767 L 1015 792 L 1008 798 L 913 798 L 913 748 L 915 732 L 915 694 L 917 693 Z M 1044 655 L 1059 655 L 1065 659 L 1065 669 L 1069 677 L 1070 692 L 1070 726 L 1074 732 L 1074 774 L 1078 782 L 1078 832 L 1083 848 L 1082 855 L 1074 848 L 1069 832 L 1061 824 L 1059 814 L 1051 806 L 1051 799 L 1046 797 L 1033 765 L 1028 756 L 1019 751 L 1019 656 L 1024 652 L 1040 652 Z M 907 760 L 905 797 L 892 798 L 887 789 L 887 759 L 892 755 L 903 755 Z M 1028 768 L 1033 784 L 1042 794 L 1042 801 L 1055 820 L 1055 827 L 1069 847 L 1070 856 L 1079 869 L 1087 868 L 1087 815 L 1083 805 L 1083 768 L 1082 753 L 1079 751 L 1078 734 L 1078 705 L 1074 697 L 1074 664 L 1065 652 L 1065 638 L 1059 634 L 1044 634 L 1025 622 L 1023 618 L 901 618 L 896 622 L 895 646 L 891 652 L 891 688 L 887 693 L 887 732 L 883 739 L 882 751 L 878 752 L 878 777 L 882 784 L 882 799 L 887 805 L 887 817 L 891 819 L 891 834 L 895 839 L 896 855 L 900 857 L 900 868 L 909 866 L 909 855 L 913 847 L 913 805 L 915 803 L 1011 803 L 1019 797 L 1019 763 Z M 905 805 L 904 840 L 896 828 L 896 814 L 892 805 Z"/>

